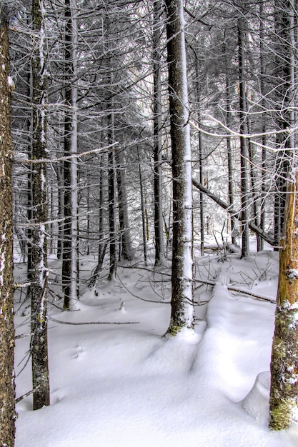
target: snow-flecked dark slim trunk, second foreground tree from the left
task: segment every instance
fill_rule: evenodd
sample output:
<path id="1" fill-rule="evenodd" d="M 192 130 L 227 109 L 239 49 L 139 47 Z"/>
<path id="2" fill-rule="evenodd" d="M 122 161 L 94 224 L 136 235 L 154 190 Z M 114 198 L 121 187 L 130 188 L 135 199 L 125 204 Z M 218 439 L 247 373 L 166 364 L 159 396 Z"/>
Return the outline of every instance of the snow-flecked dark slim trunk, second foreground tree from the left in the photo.
<path id="1" fill-rule="evenodd" d="M 46 59 L 44 57 L 44 5 L 32 1 L 32 22 L 38 36 L 32 55 L 32 156 L 46 158 Z M 34 164 L 32 173 L 32 283 L 31 351 L 33 409 L 49 405 L 49 368 L 47 347 L 47 237 L 46 237 L 46 164 Z"/>

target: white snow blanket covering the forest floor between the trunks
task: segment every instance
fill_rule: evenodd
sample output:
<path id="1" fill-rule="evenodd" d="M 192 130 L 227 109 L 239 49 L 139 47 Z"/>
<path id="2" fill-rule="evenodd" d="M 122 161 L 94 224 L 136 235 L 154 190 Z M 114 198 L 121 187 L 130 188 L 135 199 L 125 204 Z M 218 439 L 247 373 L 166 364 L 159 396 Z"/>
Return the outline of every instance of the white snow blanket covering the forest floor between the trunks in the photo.
<path id="1" fill-rule="evenodd" d="M 195 301 L 209 303 L 196 306 L 195 331 L 163 337 L 170 283 L 159 281 L 169 277 L 141 264 L 119 266 L 112 283 L 84 286 L 73 311 L 49 308 L 59 321 L 131 324 L 49 321 L 51 406 L 31 411 L 31 396 L 17 404 L 16 447 L 297 446 L 297 424 L 267 428 L 274 303 L 227 288 L 274 298 L 278 253 L 194 258 L 196 277 L 216 283 L 197 283 Z M 58 266 L 52 260 L 51 272 Z M 83 262 L 85 278 L 94 266 Z M 17 282 L 25 272 L 24 264 L 15 268 Z M 26 305 L 16 297 L 17 334 L 29 332 Z M 29 337 L 16 341 L 16 397 L 31 389 L 28 348 Z"/>

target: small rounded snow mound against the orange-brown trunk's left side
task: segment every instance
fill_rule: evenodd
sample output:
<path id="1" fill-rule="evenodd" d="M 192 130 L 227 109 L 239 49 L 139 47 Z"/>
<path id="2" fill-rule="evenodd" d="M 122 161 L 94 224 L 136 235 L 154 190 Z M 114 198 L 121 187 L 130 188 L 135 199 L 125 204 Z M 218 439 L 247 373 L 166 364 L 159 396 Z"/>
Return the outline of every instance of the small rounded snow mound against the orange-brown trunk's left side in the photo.
<path id="1" fill-rule="evenodd" d="M 244 411 L 263 426 L 268 426 L 269 421 L 269 391 L 270 372 L 264 371 L 257 375 L 254 386 L 240 402 Z"/>

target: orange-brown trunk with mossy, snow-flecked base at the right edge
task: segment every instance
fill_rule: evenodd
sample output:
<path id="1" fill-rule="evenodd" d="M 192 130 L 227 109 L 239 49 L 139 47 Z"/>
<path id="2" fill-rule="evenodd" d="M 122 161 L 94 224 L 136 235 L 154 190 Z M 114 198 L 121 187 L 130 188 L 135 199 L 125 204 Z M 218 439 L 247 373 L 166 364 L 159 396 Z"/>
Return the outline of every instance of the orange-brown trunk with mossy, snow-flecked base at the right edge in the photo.
<path id="1" fill-rule="evenodd" d="M 289 185 L 272 343 L 270 420 L 273 430 L 298 421 L 298 171 Z"/>

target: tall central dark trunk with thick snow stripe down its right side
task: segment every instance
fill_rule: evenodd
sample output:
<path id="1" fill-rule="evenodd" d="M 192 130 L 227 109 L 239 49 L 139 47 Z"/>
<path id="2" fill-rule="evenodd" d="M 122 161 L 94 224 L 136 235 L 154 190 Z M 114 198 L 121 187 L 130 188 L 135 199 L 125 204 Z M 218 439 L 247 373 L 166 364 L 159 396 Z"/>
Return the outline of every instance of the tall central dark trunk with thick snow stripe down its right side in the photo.
<path id="1" fill-rule="evenodd" d="M 169 112 L 173 176 L 172 313 L 168 333 L 194 328 L 192 296 L 192 158 L 182 0 L 167 0 Z"/>

